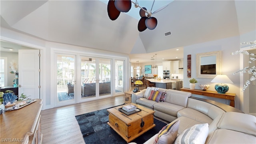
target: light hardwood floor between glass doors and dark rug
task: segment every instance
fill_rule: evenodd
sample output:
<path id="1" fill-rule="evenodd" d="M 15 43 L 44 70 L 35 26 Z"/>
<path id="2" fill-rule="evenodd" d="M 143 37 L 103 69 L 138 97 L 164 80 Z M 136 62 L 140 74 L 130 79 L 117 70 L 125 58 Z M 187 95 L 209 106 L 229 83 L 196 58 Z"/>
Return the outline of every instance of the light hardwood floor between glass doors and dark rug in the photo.
<path id="1" fill-rule="evenodd" d="M 124 95 L 42 110 L 43 144 L 84 144 L 75 116 L 124 104 Z"/>

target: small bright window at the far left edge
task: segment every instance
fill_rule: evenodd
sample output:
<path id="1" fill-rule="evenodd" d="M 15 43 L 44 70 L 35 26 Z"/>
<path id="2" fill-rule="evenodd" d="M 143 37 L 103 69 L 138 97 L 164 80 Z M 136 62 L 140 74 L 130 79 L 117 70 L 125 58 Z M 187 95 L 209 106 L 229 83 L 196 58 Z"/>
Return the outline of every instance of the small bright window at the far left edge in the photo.
<path id="1" fill-rule="evenodd" d="M 0 86 L 6 86 L 7 82 L 7 58 L 0 58 Z"/>

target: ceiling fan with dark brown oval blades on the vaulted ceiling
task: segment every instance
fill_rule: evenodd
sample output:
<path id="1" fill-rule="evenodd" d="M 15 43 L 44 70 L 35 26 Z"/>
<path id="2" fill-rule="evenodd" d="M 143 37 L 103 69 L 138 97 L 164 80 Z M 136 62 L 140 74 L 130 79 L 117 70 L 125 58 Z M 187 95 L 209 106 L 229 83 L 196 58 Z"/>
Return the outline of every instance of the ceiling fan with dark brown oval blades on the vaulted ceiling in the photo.
<path id="1" fill-rule="evenodd" d="M 147 10 L 146 8 L 142 8 L 139 6 L 137 0 L 136 2 L 132 2 L 131 0 L 109 0 L 108 1 L 108 16 L 111 20 L 116 20 L 118 16 L 120 15 L 120 12 L 128 12 L 131 7 L 132 3 L 134 3 L 135 8 L 140 8 L 140 20 L 138 22 L 138 30 L 140 32 L 143 32 L 147 28 L 150 30 L 154 30 L 157 25 L 157 19 L 155 17 L 152 17 L 152 14 L 155 14 L 159 12 L 160 10 L 166 8 L 166 6 L 163 6 L 162 8 L 159 8 L 158 10 L 152 12 L 152 8 L 154 6 L 154 2 L 152 4 L 152 7 L 150 10 Z"/>

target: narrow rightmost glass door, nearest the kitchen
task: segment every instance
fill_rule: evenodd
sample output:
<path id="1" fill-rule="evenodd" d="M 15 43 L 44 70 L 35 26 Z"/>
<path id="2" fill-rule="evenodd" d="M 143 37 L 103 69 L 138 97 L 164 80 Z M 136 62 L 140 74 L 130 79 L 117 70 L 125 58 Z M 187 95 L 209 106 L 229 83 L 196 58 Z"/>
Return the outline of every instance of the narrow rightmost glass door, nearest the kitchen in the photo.
<path id="1" fill-rule="evenodd" d="M 124 61 L 116 60 L 115 61 L 115 92 L 123 93 L 124 92 Z"/>

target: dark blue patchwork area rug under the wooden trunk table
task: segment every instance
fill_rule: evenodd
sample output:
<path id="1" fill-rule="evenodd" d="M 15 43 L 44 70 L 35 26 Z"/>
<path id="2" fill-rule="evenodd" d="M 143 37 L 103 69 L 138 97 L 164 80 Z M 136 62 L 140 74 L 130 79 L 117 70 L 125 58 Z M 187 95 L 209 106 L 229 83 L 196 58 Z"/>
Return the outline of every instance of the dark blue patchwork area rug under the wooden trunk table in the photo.
<path id="1" fill-rule="evenodd" d="M 121 136 L 108 126 L 107 109 L 108 108 L 76 116 L 86 144 L 127 144 Z M 143 144 L 166 126 L 166 123 L 155 118 L 154 124 L 156 124 L 154 128 L 132 140 L 132 142 Z"/>

